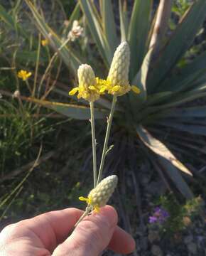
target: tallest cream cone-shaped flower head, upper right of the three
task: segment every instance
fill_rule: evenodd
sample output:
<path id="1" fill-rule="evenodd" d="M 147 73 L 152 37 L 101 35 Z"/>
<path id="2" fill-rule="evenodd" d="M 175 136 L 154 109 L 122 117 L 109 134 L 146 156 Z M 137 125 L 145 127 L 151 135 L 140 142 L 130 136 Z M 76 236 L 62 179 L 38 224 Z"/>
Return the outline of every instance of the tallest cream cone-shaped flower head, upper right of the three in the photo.
<path id="1" fill-rule="evenodd" d="M 124 95 L 131 89 L 129 85 L 130 50 L 127 42 L 122 42 L 114 53 L 107 81 L 110 84 L 109 93 Z"/>

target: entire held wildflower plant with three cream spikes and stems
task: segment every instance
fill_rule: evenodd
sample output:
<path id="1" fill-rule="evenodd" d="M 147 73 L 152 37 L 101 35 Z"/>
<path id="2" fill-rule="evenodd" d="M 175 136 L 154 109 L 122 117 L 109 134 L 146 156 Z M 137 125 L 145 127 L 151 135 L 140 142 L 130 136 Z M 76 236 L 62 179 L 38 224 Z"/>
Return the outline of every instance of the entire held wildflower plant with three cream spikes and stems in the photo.
<path id="1" fill-rule="evenodd" d="M 87 208 L 80 220 L 88 215 L 92 210 L 98 213 L 102 206 L 105 206 L 109 198 L 112 196 L 114 189 L 116 188 L 118 178 L 116 175 L 108 176 L 102 180 L 102 171 L 104 169 L 104 161 L 108 152 L 109 134 L 112 127 L 112 118 L 114 115 L 114 109 L 117 98 L 125 95 L 130 90 L 134 90 L 129 85 L 129 61 L 130 50 L 127 42 L 122 42 L 114 53 L 111 67 L 107 79 L 96 78 L 94 70 L 87 64 L 82 64 L 77 70 L 77 77 L 79 85 L 70 90 L 69 95 L 75 95 L 77 98 L 83 98 L 90 102 L 90 114 L 91 114 L 91 127 L 92 127 L 92 154 L 93 154 L 93 176 L 94 176 L 94 188 L 90 191 L 87 198 L 81 196 L 80 201 L 86 201 Z M 140 90 L 135 87 L 134 92 L 140 93 Z M 102 150 L 102 159 L 97 173 L 97 156 L 96 156 L 96 136 L 94 128 L 94 102 L 99 100 L 99 97 L 104 94 L 110 94 L 113 96 L 112 107 L 107 119 L 107 132 L 104 139 L 104 146 Z M 80 223 L 80 220 L 77 222 Z"/>

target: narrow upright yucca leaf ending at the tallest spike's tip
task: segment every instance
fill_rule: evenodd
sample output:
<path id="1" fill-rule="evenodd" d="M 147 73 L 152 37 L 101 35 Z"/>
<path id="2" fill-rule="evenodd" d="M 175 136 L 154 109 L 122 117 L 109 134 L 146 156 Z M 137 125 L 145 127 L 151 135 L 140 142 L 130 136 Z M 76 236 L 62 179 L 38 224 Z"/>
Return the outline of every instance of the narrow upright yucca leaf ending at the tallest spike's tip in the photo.
<path id="1" fill-rule="evenodd" d="M 102 20 L 103 30 L 109 43 L 109 48 L 114 53 L 114 50 L 119 45 L 119 40 L 116 35 L 116 24 L 114 21 L 114 12 L 112 8 L 112 1 L 102 0 Z"/>

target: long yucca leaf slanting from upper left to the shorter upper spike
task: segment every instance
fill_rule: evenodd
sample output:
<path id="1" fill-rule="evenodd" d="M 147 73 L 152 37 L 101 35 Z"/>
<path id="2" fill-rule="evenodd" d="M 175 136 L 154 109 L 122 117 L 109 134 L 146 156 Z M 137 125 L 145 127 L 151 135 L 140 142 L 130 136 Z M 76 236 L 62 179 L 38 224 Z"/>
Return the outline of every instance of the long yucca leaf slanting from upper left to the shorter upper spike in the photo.
<path id="1" fill-rule="evenodd" d="M 33 6 L 33 4 L 31 4 L 31 1 L 29 1 L 29 0 L 25 0 L 25 1 L 33 14 L 33 18 L 36 21 L 36 26 L 38 26 L 40 33 L 42 33 L 45 38 L 48 38 L 48 41 L 50 42 L 51 46 L 53 46 L 53 48 L 55 48 L 55 50 L 58 50 L 58 52 L 59 52 L 61 58 L 63 58 L 63 61 L 65 62 L 65 64 L 69 68 L 71 68 L 73 71 L 77 70 L 79 65 L 83 62 L 80 59 L 80 56 L 78 56 L 74 50 L 72 50 L 71 48 L 68 48 L 67 46 L 64 46 L 63 48 L 60 49 L 60 47 L 63 45 L 63 42 L 61 41 L 61 39 L 45 23 L 43 18 L 38 13 L 38 10 L 35 8 L 35 6 Z"/>

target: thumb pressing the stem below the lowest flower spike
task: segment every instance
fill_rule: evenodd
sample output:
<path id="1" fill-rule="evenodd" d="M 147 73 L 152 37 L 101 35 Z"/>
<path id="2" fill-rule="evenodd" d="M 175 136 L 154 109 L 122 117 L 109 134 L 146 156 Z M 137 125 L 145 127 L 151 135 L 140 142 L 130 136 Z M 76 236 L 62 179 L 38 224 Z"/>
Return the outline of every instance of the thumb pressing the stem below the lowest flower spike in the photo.
<path id="1" fill-rule="evenodd" d="M 65 242 L 53 252 L 53 256 L 97 256 L 112 238 L 117 223 L 117 213 L 112 206 L 101 208 L 100 213 L 92 213 L 75 228 Z"/>

